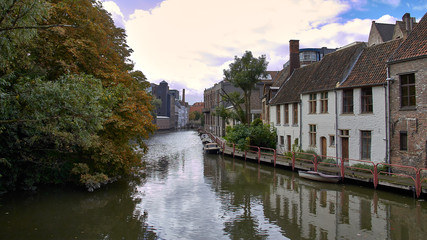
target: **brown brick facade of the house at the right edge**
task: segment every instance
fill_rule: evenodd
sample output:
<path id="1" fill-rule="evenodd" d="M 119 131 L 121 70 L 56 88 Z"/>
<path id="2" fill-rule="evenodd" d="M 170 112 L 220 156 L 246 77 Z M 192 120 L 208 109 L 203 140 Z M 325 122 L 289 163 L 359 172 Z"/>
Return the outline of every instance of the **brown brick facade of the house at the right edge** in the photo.
<path id="1" fill-rule="evenodd" d="M 402 107 L 401 78 L 415 76 L 414 107 Z M 391 163 L 427 167 L 427 58 L 390 65 Z M 407 147 L 402 146 L 406 135 Z"/>

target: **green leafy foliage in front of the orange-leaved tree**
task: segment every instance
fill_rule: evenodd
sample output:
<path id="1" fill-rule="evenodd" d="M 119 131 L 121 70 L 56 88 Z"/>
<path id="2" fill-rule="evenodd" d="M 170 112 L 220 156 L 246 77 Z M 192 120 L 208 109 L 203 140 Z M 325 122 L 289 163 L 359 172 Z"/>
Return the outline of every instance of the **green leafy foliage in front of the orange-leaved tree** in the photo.
<path id="1" fill-rule="evenodd" d="M 20 187 L 14 180 L 28 188 L 58 181 L 59 175 L 59 182 L 66 181 L 70 162 L 98 146 L 98 132 L 111 117 L 114 101 L 101 81 L 88 75 L 17 79 L 0 103 L 0 139 L 5 143 L 0 155 L 9 164 L 0 188 Z"/>

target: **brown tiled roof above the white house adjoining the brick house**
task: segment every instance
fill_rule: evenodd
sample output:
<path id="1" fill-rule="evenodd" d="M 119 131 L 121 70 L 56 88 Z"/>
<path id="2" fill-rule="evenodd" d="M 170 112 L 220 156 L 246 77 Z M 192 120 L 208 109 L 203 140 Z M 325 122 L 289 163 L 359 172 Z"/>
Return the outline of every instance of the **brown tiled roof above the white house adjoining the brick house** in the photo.
<path id="1" fill-rule="evenodd" d="M 387 78 L 387 59 L 401 43 L 402 39 L 397 39 L 365 48 L 350 75 L 340 87 L 361 87 L 384 83 Z"/>

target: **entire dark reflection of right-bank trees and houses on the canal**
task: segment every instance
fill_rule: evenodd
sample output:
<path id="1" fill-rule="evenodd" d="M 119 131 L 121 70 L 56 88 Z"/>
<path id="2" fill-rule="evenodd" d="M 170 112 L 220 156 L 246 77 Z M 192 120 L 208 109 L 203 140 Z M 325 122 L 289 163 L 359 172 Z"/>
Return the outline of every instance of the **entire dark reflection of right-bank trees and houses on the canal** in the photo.
<path id="1" fill-rule="evenodd" d="M 250 209 L 248 215 L 268 219 L 290 239 L 423 239 L 427 232 L 422 202 L 411 209 L 407 199 L 372 189 L 312 182 L 239 160 L 206 160 L 205 178 L 229 196 L 222 204 L 240 209 L 236 199 L 242 194 L 261 199 L 262 216 Z"/>

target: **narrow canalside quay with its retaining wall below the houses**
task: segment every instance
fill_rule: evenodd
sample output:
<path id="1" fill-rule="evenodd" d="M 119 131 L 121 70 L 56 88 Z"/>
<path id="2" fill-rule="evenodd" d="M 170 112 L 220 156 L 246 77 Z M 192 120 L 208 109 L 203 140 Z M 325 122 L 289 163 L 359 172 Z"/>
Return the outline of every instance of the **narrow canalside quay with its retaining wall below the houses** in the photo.
<path id="1" fill-rule="evenodd" d="M 326 174 L 335 174 L 342 177 L 341 183 L 356 184 L 375 189 L 382 189 L 394 193 L 411 195 L 414 198 L 427 199 L 427 178 L 424 176 L 426 171 L 422 172 L 410 166 L 388 165 L 387 169 L 394 168 L 396 172 L 382 171 L 378 169 L 378 164 L 369 161 L 358 161 L 368 165 L 372 163 L 372 169 L 363 169 L 352 167 L 348 162 L 337 161 L 338 163 L 317 161 L 317 156 L 306 153 L 286 153 L 278 154 L 275 149 L 260 148 L 250 146 L 247 151 L 240 151 L 233 144 L 228 144 L 225 140 L 208 133 L 211 139 L 221 146 L 221 153 L 239 158 L 258 162 L 259 164 L 272 165 L 274 167 L 284 168 L 290 171 L 319 171 Z M 398 168 L 406 170 L 405 172 Z M 412 171 L 412 173 L 410 172 Z M 424 174 L 424 175 L 423 175 Z M 423 177 L 424 176 L 424 177 Z"/>

